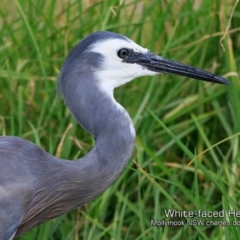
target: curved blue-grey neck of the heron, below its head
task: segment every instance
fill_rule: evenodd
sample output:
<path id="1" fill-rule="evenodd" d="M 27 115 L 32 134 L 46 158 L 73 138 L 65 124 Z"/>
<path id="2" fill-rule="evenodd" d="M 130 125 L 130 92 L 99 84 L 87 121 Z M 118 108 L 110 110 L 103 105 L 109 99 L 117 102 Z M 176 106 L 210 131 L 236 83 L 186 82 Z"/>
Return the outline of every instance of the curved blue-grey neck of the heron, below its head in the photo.
<path id="1" fill-rule="evenodd" d="M 73 161 L 76 181 L 81 182 L 75 195 L 81 204 L 102 193 L 118 178 L 132 155 L 135 140 L 126 110 L 101 91 L 96 82 L 81 78 L 78 84 L 67 82 L 67 91 L 63 91 L 73 116 L 96 140 L 86 156 Z"/>

